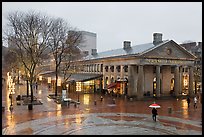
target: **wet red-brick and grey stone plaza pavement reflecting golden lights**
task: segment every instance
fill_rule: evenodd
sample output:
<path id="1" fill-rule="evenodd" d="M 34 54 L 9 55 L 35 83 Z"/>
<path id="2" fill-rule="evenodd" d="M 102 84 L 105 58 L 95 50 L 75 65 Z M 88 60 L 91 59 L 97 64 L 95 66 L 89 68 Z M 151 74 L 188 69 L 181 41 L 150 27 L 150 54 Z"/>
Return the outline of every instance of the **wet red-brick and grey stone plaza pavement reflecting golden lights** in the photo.
<path id="1" fill-rule="evenodd" d="M 18 89 L 18 88 L 17 88 Z M 20 86 L 16 95 L 24 94 L 25 86 Z M 100 94 L 80 94 L 80 104 L 76 107 L 61 106 L 47 97 L 48 89 L 42 85 L 35 96 L 43 105 L 34 105 L 28 110 L 27 105 L 16 105 L 11 113 L 8 109 L 8 94 L 2 93 L 2 134 L 3 135 L 202 135 L 202 104 L 194 109 L 191 103 L 187 107 L 185 99 L 159 99 L 130 101 L 124 97 Z M 13 96 L 16 96 L 13 95 Z M 77 95 L 69 94 L 77 100 Z M 96 105 L 94 104 L 96 100 Z M 152 120 L 151 108 L 156 101 L 157 122 Z M 168 108 L 172 108 L 172 113 Z"/>

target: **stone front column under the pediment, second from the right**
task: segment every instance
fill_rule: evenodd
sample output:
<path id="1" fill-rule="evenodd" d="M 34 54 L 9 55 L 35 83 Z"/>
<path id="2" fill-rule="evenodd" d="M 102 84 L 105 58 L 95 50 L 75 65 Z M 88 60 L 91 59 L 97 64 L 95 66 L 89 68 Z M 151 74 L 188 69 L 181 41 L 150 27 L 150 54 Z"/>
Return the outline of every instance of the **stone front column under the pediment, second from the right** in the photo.
<path id="1" fill-rule="evenodd" d="M 180 80 L 179 80 L 179 66 L 175 67 L 175 72 L 174 72 L 174 92 L 175 96 L 177 97 L 179 95 L 179 85 L 180 85 Z"/>

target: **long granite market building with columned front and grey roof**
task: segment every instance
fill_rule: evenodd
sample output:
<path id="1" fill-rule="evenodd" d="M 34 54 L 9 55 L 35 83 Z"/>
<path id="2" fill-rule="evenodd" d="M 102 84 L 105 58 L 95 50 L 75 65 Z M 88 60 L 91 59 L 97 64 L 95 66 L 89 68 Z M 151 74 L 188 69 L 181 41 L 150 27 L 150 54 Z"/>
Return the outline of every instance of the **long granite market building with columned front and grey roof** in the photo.
<path id="1" fill-rule="evenodd" d="M 103 92 L 142 99 L 146 96 L 194 96 L 196 57 L 174 40 L 163 40 L 161 33 L 153 41 L 91 54 L 74 62 L 76 73 L 70 86 L 81 82 L 81 92 Z M 69 89 L 71 90 L 71 89 Z M 75 88 L 73 89 L 75 91 Z"/>

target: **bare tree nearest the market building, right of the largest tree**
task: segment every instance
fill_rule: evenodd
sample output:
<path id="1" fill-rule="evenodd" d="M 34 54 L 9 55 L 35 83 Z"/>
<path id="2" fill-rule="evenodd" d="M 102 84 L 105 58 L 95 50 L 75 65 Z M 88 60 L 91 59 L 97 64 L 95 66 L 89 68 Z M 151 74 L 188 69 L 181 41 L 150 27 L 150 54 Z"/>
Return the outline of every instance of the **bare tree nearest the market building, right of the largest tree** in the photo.
<path id="1" fill-rule="evenodd" d="M 52 51 L 55 62 L 55 96 L 57 96 L 57 81 L 58 75 L 61 74 L 61 70 L 64 74 L 64 80 L 66 81 L 67 70 L 70 69 L 70 62 L 73 59 L 73 55 L 77 53 L 77 46 L 81 42 L 80 31 L 72 29 L 63 19 L 53 18 L 52 26 L 49 37 L 49 47 Z M 61 63 L 64 62 L 62 66 Z M 64 83 L 64 82 L 63 82 Z"/>

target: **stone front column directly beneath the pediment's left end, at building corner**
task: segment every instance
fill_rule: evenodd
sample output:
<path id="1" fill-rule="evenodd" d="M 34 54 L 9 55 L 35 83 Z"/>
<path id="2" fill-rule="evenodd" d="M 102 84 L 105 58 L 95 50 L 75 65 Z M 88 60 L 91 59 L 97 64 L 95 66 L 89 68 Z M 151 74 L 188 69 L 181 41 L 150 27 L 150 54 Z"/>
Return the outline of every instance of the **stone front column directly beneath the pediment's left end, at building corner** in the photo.
<path id="1" fill-rule="evenodd" d="M 139 71 L 138 71 L 138 81 L 137 81 L 137 98 L 141 99 L 143 98 L 143 93 L 144 93 L 144 66 L 139 65 Z"/>

